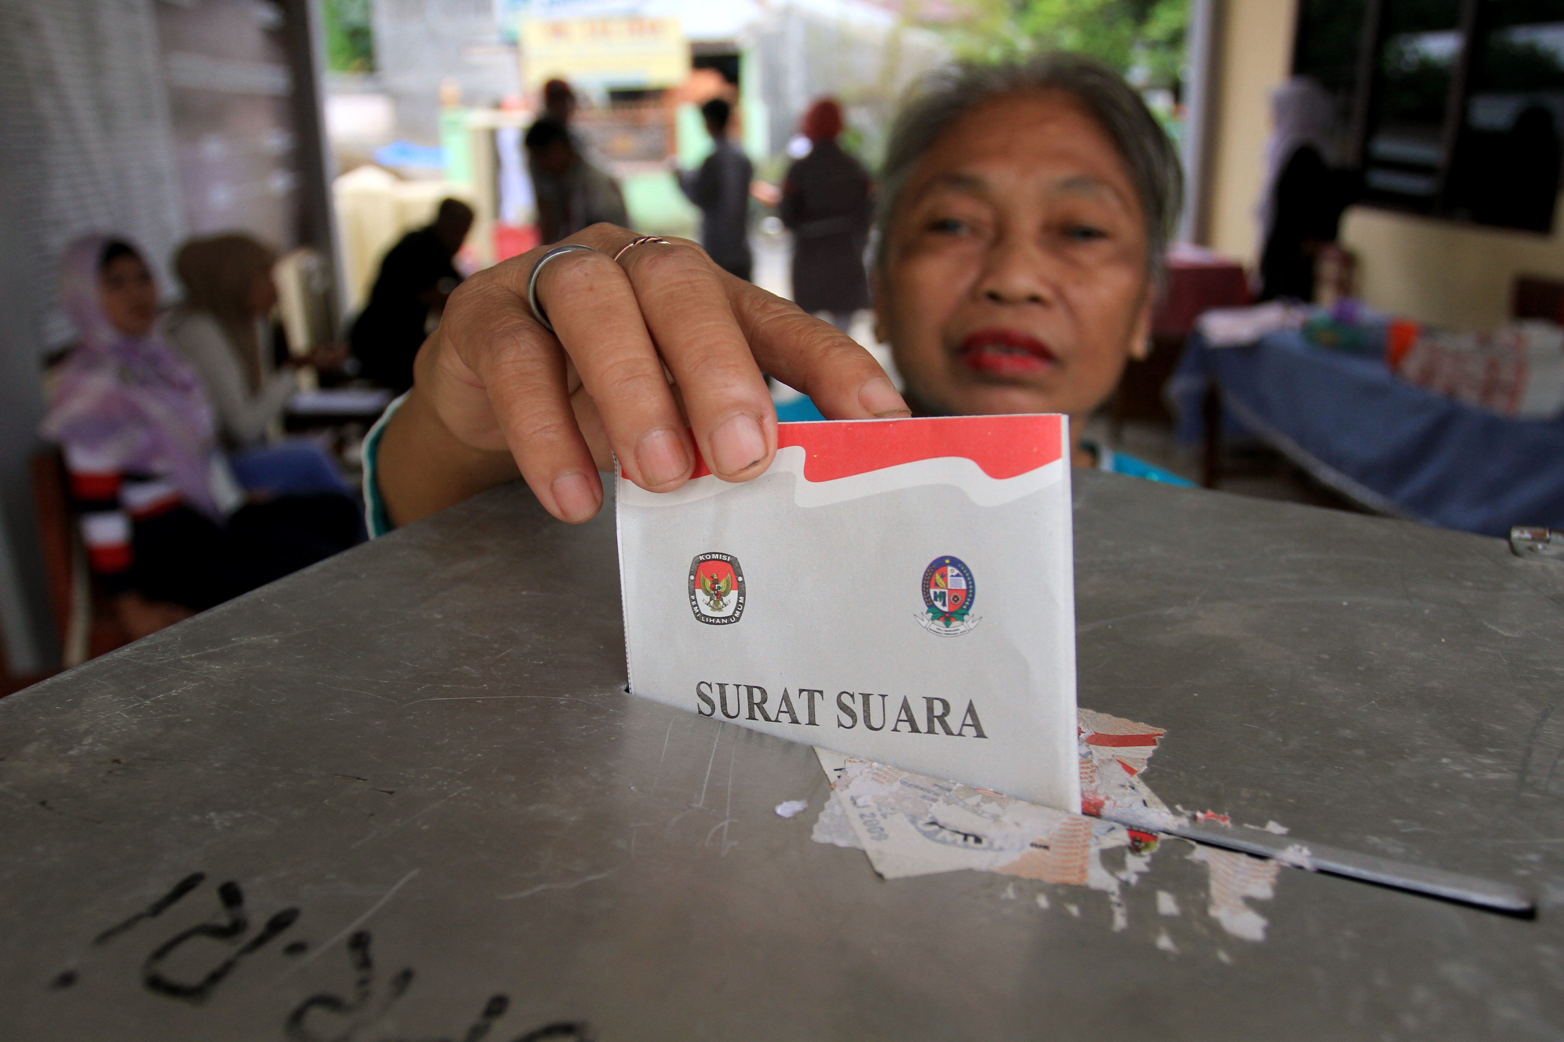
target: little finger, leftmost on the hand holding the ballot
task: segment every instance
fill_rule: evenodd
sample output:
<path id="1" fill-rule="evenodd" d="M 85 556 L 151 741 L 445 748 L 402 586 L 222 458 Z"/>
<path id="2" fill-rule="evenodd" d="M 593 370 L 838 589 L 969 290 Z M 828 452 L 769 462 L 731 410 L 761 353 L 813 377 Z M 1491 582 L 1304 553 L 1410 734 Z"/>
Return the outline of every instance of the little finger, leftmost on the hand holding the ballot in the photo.
<path id="1" fill-rule="evenodd" d="M 544 509 L 565 522 L 591 519 L 602 506 L 602 483 L 576 425 L 558 341 L 499 280 L 457 292 L 465 294 L 461 306 L 436 342 L 454 355 L 449 378 L 438 383 L 441 419 L 458 437 L 493 439 L 497 426 Z"/>

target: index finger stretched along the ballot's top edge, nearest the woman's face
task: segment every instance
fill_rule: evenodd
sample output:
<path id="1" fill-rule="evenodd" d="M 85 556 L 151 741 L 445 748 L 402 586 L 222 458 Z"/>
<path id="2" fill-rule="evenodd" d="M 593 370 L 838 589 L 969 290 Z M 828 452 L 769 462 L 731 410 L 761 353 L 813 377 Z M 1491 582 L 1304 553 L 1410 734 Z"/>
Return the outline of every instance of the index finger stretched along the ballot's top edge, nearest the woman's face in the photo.
<path id="1" fill-rule="evenodd" d="M 874 356 L 851 336 L 759 286 L 729 277 L 734 316 L 760 366 L 830 420 L 912 416 Z"/>

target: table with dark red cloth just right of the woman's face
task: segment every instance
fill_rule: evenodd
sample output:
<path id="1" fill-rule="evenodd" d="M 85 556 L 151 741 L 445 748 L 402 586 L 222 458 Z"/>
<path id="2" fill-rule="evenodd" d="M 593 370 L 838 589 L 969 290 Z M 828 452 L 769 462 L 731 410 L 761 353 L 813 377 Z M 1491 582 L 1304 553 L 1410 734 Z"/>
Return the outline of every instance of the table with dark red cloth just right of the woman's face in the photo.
<path id="1" fill-rule="evenodd" d="M 1232 258 L 1190 244 L 1168 250 L 1167 284 L 1151 314 L 1150 351 L 1125 366 L 1114 397 L 1115 437 L 1125 420 L 1171 423 L 1162 387 L 1178 367 L 1195 319 L 1212 308 L 1240 308 L 1248 302 L 1248 275 Z"/>

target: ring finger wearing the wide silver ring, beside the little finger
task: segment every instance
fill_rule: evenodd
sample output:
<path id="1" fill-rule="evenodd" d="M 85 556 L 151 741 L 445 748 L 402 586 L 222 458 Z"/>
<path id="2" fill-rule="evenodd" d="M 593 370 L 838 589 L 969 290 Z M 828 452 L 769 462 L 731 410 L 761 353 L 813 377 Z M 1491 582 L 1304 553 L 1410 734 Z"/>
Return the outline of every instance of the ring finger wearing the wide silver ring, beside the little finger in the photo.
<path id="1" fill-rule="evenodd" d="M 624 476 L 649 492 L 683 484 L 694 472 L 693 445 L 624 269 L 605 253 L 560 255 L 538 278 L 538 300 Z"/>

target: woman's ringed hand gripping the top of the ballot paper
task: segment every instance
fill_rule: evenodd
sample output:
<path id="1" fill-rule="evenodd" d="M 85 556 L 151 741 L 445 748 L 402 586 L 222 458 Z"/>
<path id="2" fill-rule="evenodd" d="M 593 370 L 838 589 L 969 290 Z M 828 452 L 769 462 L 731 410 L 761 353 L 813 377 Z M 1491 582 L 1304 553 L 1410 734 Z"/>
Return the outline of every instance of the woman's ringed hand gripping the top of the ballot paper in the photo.
<path id="1" fill-rule="evenodd" d="M 416 387 L 380 447 L 396 523 L 416 520 L 521 472 L 555 517 L 602 506 L 597 470 L 618 456 L 652 492 L 682 486 L 696 451 L 729 481 L 776 455 L 762 372 L 809 394 L 832 419 L 907 416 L 874 358 L 795 305 L 718 269 L 691 242 L 647 242 L 594 225 L 549 261 L 527 306 L 540 247 L 465 281 L 424 344 Z M 560 244 L 555 244 L 560 245 Z"/>

